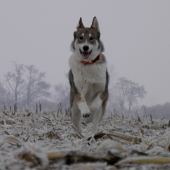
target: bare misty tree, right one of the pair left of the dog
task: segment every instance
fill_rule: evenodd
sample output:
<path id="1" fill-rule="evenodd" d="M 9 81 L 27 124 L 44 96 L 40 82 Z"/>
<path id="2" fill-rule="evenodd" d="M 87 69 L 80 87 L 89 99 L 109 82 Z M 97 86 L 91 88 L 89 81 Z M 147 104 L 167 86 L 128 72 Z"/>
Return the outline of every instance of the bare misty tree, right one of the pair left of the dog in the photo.
<path id="1" fill-rule="evenodd" d="M 39 72 L 39 70 L 34 66 L 25 66 L 27 70 L 26 78 L 26 103 L 30 106 L 30 103 L 40 97 L 49 97 L 49 89 L 51 85 L 44 81 L 45 73 Z"/>

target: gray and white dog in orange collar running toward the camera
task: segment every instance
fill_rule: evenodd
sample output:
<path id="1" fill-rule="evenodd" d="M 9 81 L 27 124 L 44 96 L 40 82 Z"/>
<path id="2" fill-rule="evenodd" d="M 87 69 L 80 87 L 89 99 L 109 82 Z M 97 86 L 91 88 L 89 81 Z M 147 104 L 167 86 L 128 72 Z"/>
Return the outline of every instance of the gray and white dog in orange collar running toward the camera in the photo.
<path id="1" fill-rule="evenodd" d="M 93 18 L 90 28 L 85 28 L 80 18 L 73 35 L 69 59 L 71 119 L 80 132 L 82 117 L 86 124 L 92 122 L 95 134 L 105 113 L 109 84 L 97 18 Z"/>

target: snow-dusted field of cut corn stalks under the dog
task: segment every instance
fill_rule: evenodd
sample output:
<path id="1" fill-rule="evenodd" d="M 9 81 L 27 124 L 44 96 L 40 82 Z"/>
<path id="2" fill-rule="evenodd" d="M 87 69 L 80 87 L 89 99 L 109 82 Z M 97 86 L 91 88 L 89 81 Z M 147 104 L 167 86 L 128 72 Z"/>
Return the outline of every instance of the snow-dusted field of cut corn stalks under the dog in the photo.
<path id="1" fill-rule="evenodd" d="M 0 110 L 0 169 L 147 170 L 170 169 L 170 128 L 166 118 L 105 115 L 99 133 L 92 124 L 73 127 L 69 110 L 14 113 Z"/>

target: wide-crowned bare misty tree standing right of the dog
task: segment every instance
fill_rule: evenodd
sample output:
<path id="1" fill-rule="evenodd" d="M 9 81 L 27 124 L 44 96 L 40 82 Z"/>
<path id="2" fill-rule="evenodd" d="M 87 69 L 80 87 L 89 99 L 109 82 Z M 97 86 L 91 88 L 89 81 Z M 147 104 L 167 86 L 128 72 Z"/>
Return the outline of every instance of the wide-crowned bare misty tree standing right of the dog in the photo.
<path id="1" fill-rule="evenodd" d="M 146 91 L 144 86 L 130 81 L 125 77 L 119 78 L 116 83 L 117 100 L 122 111 L 125 109 L 125 104 L 128 105 L 130 112 L 131 107 L 137 103 L 139 98 L 144 98 Z"/>

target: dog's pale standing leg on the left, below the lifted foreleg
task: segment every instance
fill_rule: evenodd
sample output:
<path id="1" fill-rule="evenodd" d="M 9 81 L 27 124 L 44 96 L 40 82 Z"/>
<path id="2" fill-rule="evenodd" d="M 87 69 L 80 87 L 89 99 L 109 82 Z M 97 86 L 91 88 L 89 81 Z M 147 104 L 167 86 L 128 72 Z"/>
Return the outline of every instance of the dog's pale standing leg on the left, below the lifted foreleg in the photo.
<path id="1" fill-rule="evenodd" d="M 81 132 L 81 113 L 77 107 L 77 104 L 73 102 L 73 106 L 71 108 L 71 114 L 72 114 L 72 122 L 73 125 L 76 127 L 76 129 Z"/>

